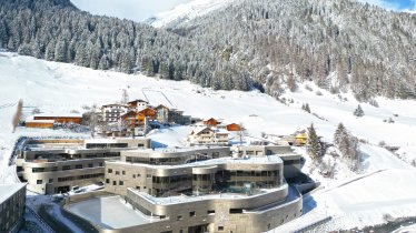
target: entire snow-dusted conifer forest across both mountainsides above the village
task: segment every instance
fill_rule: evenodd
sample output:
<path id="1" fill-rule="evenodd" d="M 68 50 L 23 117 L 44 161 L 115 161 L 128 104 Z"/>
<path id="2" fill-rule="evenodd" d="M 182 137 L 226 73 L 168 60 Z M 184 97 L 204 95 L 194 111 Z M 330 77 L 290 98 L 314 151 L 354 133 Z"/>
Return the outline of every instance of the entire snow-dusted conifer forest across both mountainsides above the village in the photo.
<path id="1" fill-rule="evenodd" d="M 348 0 L 236 0 L 168 30 L 69 0 L 0 0 L 0 47 L 214 89 L 279 95 L 313 80 L 360 101 L 416 98 L 416 16 Z"/>

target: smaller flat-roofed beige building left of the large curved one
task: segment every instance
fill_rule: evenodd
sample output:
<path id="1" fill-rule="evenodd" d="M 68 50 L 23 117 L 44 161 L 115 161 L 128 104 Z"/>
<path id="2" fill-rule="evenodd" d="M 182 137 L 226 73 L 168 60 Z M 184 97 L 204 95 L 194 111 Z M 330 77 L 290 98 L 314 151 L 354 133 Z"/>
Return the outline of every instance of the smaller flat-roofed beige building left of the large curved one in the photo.
<path id="1" fill-rule="evenodd" d="M 121 151 L 150 148 L 150 140 L 91 139 L 33 140 L 19 151 L 17 171 L 27 189 L 40 194 L 63 193 L 73 186 L 103 182 L 105 161 L 120 158 Z"/>

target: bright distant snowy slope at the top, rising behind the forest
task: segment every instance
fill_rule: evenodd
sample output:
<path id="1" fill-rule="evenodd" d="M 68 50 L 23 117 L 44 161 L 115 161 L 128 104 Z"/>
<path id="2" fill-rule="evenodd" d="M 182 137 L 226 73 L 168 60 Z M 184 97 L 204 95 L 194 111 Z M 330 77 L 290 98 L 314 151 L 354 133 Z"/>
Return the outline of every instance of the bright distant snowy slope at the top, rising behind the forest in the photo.
<path id="1" fill-rule="evenodd" d="M 232 1 L 235 0 L 191 0 L 190 2 L 178 4 L 169 11 L 158 13 L 146 22 L 156 28 L 167 27 L 170 23 L 186 22 L 217 10 Z"/>

